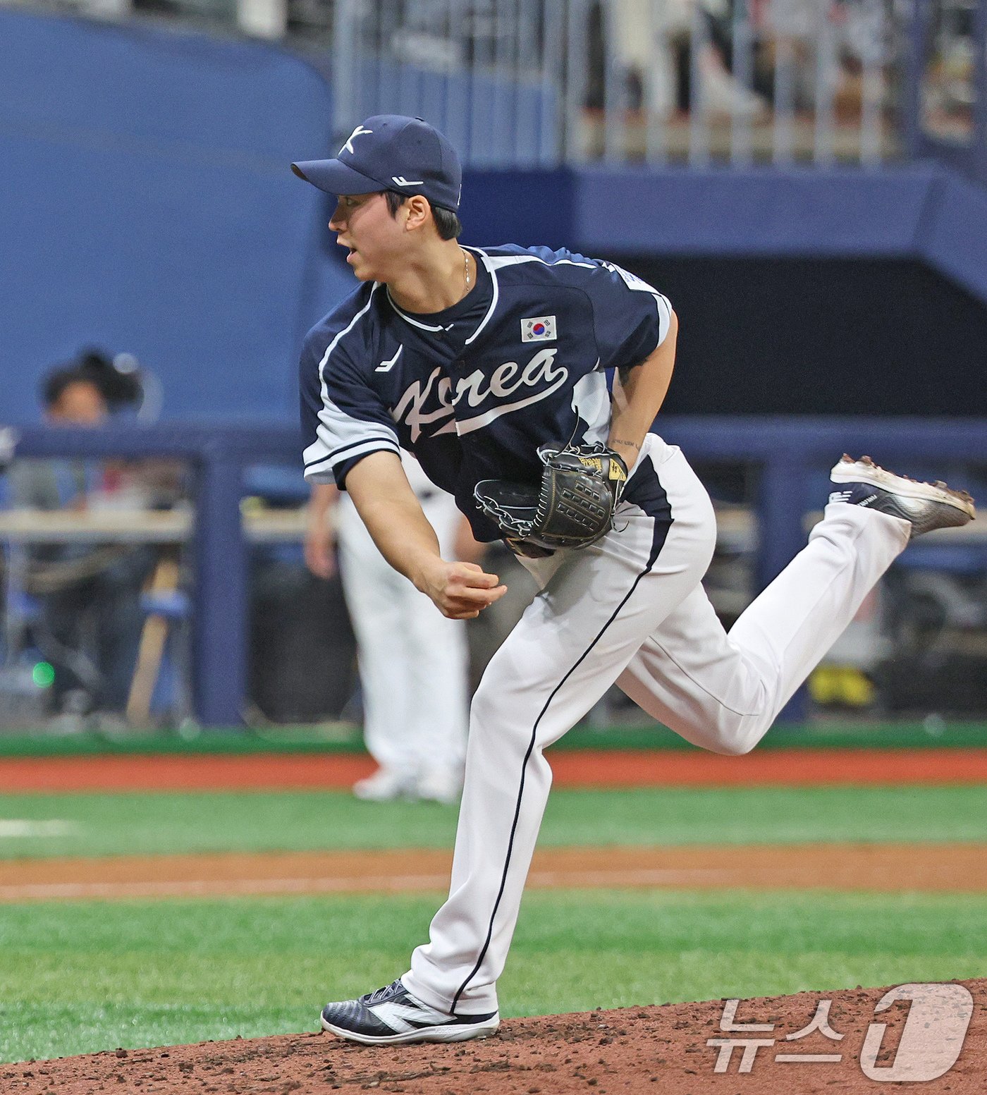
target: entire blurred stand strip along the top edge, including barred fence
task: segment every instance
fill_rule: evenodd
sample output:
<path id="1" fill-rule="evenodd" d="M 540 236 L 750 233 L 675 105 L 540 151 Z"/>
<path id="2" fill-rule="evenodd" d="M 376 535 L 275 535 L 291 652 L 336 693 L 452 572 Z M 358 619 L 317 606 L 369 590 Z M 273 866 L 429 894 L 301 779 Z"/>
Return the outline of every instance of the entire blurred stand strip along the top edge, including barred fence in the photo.
<path id="1" fill-rule="evenodd" d="M 53 2 L 318 50 L 341 138 L 417 114 L 473 166 L 934 154 L 987 180 L 987 0 Z"/>

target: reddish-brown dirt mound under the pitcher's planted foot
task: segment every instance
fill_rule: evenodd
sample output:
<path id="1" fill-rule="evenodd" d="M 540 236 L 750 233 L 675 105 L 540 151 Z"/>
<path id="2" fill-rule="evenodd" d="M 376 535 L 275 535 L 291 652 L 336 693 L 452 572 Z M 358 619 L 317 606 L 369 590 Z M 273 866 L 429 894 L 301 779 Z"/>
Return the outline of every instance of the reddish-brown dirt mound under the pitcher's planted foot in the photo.
<path id="1" fill-rule="evenodd" d="M 902 1000 L 875 1018 L 874 1005 L 887 990 L 858 989 L 741 1001 L 733 1023 L 759 1024 L 769 1026 L 768 1030 L 725 1030 L 721 1027 L 723 1001 L 666 1004 L 509 1019 L 495 1037 L 462 1045 L 368 1048 L 330 1035 L 296 1034 L 168 1049 L 110 1050 L 0 1065 L 0 1091 L 57 1091 L 60 1095 L 282 1095 L 333 1090 L 421 1095 L 822 1095 L 873 1092 L 880 1075 L 885 1081 L 904 1081 L 896 1090 L 974 1095 L 984 1091 L 987 1070 L 987 980 L 954 984 L 959 983 L 965 984 L 974 1001 L 965 1044 L 955 1063 L 928 1081 L 922 1081 L 922 1070 L 931 1075 L 937 1059 L 939 1067 L 948 1065 L 962 1040 L 963 1019 L 955 1025 L 956 1004 L 948 1002 L 940 990 L 938 1003 L 916 1000 L 909 1005 Z M 787 1035 L 812 1024 L 825 1000 L 831 1001 L 828 1036 L 816 1029 L 787 1040 Z M 877 1023 L 886 1024 L 883 1033 L 873 1029 Z M 834 1034 L 842 1037 L 836 1040 Z M 766 1042 L 748 1049 L 754 1057 L 744 1073 L 738 1072 L 743 1046 L 732 1051 L 725 1071 L 715 1071 L 722 1050 L 708 1045 L 708 1039 L 730 1038 Z M 778 1060 L 779 1054 L 791 1059 Z M 808 1054 L 839 1060 L 810 1061 Z M 875 1072 L 881 1069 L 893 1071 Z"/>

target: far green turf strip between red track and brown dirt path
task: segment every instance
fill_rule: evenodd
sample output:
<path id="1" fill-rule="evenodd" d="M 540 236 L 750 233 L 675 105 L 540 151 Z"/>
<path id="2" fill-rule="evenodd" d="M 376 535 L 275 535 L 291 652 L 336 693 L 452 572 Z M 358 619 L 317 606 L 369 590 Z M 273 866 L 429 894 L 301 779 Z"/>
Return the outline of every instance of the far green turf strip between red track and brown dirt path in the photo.
<path id="1" fill-rule="evenodd" d="M 3 835 L 24 856 L 451 848 L 456 809 L 360 803 L 342 792 L 7 795 Z M 61 828 L 59 829 L 60 823 Z M 543 846 L 987 841 L 980 786 L 559 789 Z"/>

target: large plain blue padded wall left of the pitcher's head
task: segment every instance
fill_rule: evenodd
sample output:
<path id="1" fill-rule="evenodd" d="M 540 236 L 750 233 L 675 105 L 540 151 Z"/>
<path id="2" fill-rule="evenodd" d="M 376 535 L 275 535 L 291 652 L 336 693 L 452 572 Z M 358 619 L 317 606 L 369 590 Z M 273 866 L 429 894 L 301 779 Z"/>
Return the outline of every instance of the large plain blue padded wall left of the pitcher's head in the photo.
<path id="1" fill-rule="evenodd" d="M 288 164 L 330 129 L 279 48 L 0 10 L 0 420 L 83 344 L 159 372 L 169 416 L 294 415 L 323 203 Z"/>

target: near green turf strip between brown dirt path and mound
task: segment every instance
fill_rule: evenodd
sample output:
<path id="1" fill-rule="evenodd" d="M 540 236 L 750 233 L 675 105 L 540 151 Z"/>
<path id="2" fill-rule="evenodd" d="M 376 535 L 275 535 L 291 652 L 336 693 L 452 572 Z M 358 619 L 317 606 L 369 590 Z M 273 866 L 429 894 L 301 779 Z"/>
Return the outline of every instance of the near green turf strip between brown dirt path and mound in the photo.
<path id="1" fill-rule="evenodd" d="M 0 1061 L 317 1028 L 386 984 L 440 895 L 0 906 Z M 983 973 L 987 896 L 525 898 L 505 1016 Z"/>

